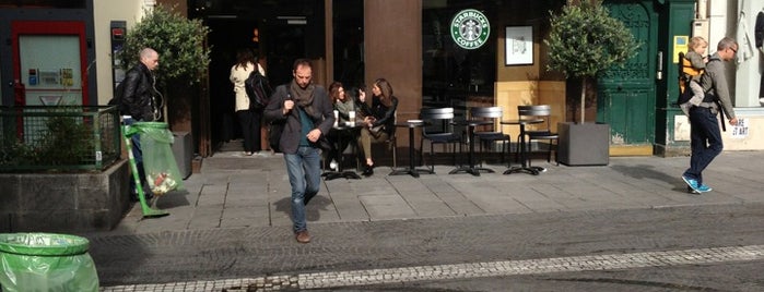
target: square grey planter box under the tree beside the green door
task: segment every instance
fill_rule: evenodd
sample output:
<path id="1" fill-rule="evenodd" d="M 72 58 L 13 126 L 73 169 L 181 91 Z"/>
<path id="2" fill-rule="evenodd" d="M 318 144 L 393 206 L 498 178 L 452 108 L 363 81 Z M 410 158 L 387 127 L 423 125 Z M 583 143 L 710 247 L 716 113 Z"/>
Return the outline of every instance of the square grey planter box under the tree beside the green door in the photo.
<path id="1" fill-rule="evenodd" d="M 557 123 L 557 158 L 566 166 L 607 166 L 610 162 L 610 125 Z"/>

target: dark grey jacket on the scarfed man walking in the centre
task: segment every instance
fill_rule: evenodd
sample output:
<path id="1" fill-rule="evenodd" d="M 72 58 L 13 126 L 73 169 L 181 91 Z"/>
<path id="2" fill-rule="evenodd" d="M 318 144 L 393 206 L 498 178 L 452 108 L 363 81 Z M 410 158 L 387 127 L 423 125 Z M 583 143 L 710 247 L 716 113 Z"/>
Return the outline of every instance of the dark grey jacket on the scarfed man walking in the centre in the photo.
<path id="1" fill-rule="evenodd" d="M 329 96 L 327 95 L 327 90 L 322 86 L 316 85 L 313 95 L 313 109 L 315 117 L 310 117 L 310 119 L 313 120 L 315 127 L 321 131 L 321 139 L 326 141 L 326 135 L 334 124 L 334 113 L 332 112 L 333 109 L 331 101 L 329 100 Z M 270 101 L 263 111 L 263 117 L 267 123 L 274 121 L 286 121 L 284 131 L 281 132 L 279 146 L 281 147 L 281 151 L 284 154 L 296 154 L 299 146 L 302 125 L 299 123 L 299 112 L 297 112 L 296 108 L 286 114 L 283 114 L 284 100 L 290 98 L 291 95 L 289 93 L 289 83 L 286 85 L 275 87 L 275 92 L 271 96 Z M 295 107 L 297 107 L 297 105 L 295 105 Z M 315 144 L 314 146 L 321 147 L 319 144 Z"/>

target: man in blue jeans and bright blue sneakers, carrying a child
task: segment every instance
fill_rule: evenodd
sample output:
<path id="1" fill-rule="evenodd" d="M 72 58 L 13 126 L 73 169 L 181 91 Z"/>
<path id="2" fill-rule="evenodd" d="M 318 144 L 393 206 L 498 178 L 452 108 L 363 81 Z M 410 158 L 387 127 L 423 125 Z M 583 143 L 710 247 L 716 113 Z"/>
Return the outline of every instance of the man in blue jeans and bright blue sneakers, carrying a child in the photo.
<path id="1" fill-rule="evenodd" d="M 725 122 L 724 115 L 727 115 L 730 124 L 738 124 L 722 62 L 734 59 L 737 52 L 738 42 L 734 39 L 725 37 L 719 40 L 716 52 L 708 59 L 706 72 L 703 75 L 704 88 L 709 89 L 707 89 L 703 102 L 690 109 L 692 156 L 690 157 L 690 168 L 682 174 L 682 180 L 687 184 L 687 191 L 691 193 L 700 194 L 712 191 L 710 186 L 703 183 L 703 170 L 724 148 L 719 121 L 716 118 L 719 108 L 722 110 L 722 123 Z"/>

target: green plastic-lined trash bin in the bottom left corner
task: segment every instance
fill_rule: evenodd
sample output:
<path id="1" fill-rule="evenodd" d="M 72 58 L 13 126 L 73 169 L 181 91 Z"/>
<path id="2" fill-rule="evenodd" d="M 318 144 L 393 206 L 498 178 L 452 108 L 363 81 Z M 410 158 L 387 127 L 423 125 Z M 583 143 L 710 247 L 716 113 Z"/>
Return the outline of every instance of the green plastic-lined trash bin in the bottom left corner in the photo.
<path id="1" fill-rule="evenodd" d="M 89 246 L 75 235 L 0 233 L 0 290 L 98 291 Z"/>

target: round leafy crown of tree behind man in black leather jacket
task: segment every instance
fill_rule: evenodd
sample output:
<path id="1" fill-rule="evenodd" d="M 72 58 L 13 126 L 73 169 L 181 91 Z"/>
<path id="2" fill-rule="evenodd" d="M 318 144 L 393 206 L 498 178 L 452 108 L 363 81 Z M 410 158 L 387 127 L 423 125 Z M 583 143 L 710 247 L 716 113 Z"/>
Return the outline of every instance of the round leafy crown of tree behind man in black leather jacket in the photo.
<path id="1" fill-rule="evenodd" d="M 210 51 L 204 48 L 209 33 L 200 20 L 188 20 L 173 9 L 157 5 L 128 29 L 117 58 L 125 69 L 130 69 L 138 63 L 141 49 L 153 48 L 160 53 L 160 86 L 171 81 L 179 86 L 192 85 L 201 80 L 210 63 Z"/>

